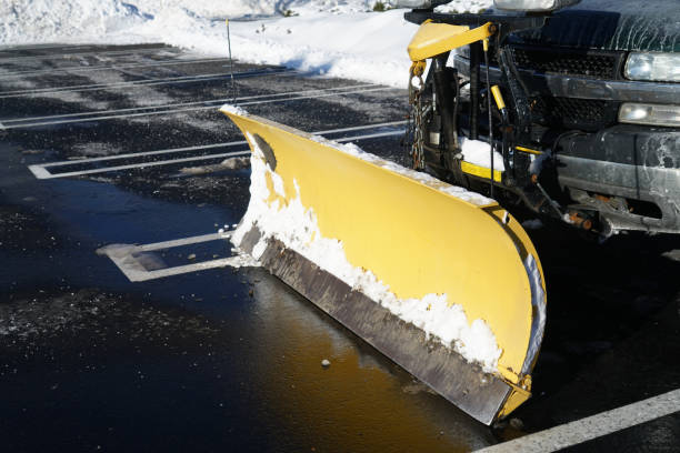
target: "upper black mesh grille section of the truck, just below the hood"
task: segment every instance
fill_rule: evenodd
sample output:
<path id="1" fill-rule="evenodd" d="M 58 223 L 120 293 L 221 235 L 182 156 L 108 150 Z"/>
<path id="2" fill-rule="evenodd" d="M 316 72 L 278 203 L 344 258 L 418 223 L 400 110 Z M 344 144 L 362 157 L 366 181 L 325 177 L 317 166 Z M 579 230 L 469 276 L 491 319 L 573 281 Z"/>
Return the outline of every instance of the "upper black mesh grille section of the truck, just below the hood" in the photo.
<path id="1" fill-rule="evenodd" d="M 616 79 L 619 56 L 614 53 L 589 53 L 557 49 L 512 49 L 514 62 L 520 69 L 539 72 L 587 76 L 600 79 Z"/>

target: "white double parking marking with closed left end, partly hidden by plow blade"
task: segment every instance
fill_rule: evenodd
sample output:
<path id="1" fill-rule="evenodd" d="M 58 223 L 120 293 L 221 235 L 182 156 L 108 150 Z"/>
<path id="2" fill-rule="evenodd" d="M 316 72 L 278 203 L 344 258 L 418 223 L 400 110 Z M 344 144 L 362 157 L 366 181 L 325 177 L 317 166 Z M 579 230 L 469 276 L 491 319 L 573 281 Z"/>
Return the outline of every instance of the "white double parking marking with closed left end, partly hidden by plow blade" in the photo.
<path id="1" fill-rule="evenodd" d="M 373 128 L 376 128 L 376 127 L 372 127 L 371 129 L 373 129 Z M 351 130 L 351 128 L 350 128 L 350 130 Z M 314 133 L 314 134 L 318 134 L 318 132 Z M 392 135 L 400 135 L 400 134 L 403 134 L 403 130 L 376 132 L 376 133 L 369 133 L 369 134 L 363 134 L 363 135 L 342 137 L 342 138 L 339 138 L 339 139 L 333 139 L 333 141 L 342 143 L 342 142 L 349 142 L 349 141 L 354 141 L 354 140 L 369 140 L 369 139 L 376 139 L 376 138 L 380 138 L 380 137 L 392 137 Z M 246 141 L 237 141 L 237 142 L 228 142 L 228 143 L 224 143 L 224 144 L 221 144 L 221 143 L 220 144 L 210 144 L 210 145 L 206 145 L 206 147 L 188 147 L 187 150 L 200 150 L 200 149 L 218 148 L 218 147 L 232 147 L 232 145 L 237 145 L 237 144 L 247 144 L 247 142 Z M 149 155 L 150 153 L 178 152 L 178 150 L 182 150 L 182 149 L 178 148 L 178 149 L 173 149 L 173 150 L 150 151 L 149 153 L 146 153 L 144 155 Z M 236 157 L 242 157 L 242 155 L 248 155 L 248 154 L 250 154 L 250 151 L 249 150 L 243 150 L 243 151 L 223 152 L 223 153 L 218 153 L 218 154 L 194 155 L 194 157 L 190 157 L 190 158 L 168 159 L 168 160 L 160 160 L 160 161 L 130 163 L 130 164 L 126 164 L 126 165 L 114 165 L 114 167 L 106 167 L 106 168 L 90 169 L 90 170 L 68 171 L 68 172 L 63 172 L 63 173 L 51 173 L 47 169 L 47 167 L 57 167 L 57 164 L 59 164 L 59 165 L 67 165 L 67 164 L 74 165 L 74 164 L 81 163 L 82 160 L 60 161 L 60 162 L 53 162 L 52 164 L 50 164 L 50 163 L 40 163 L 40 164 L 29 165 L 28 169 L 31 171 L 31 173 L 33 173 L 33 175 L 37 179 L 54 179 L 54 178 L 80 177 L 80 175 L 96 174 L 96 173 L 108 173 L 108 172 L 111 172 L 111 171 L 121 171 L 121 170 L 131 170 L 131 169 L 143 169 L 143 168 L 147 168 L 147 167 L 170 165 L 170 164 L 174 164 L 174 163 L 196 162 L 196 161 L 204 161 L 204 160 L 211 160 L 211 159 L 236 158 Z M 140 154 L 132 154 L 132 155 L 140 155 Z M 102 160 L 103 158 L 94 158 L 94 159 Z"/>

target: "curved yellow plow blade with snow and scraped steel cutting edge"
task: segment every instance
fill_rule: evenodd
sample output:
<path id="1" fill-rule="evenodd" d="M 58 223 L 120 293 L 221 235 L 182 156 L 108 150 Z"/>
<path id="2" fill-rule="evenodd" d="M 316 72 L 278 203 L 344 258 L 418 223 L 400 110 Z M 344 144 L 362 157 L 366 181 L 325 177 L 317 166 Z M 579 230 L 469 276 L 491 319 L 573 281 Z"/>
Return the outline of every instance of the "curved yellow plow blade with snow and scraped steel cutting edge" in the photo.
<path id="1" fill-rule="evenodd" d="M 222 111 L 252 150 L 234 244 L 477 420 L 490 424 L 530 396 L 543 275 L 496 201 Z"/>

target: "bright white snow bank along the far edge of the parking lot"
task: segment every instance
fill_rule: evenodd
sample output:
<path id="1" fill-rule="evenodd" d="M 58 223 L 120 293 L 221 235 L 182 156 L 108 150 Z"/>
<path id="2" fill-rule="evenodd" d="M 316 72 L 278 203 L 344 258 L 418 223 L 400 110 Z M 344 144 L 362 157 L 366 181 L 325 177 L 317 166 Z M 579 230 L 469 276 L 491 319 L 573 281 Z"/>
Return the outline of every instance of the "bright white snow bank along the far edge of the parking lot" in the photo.
<path id="1" fill-rule="evenodd" d="M 0 46 L 164 42 L 227 57 L 229 18 L 232 54 L 241 61 L 406 88 L 406 48 L 417 26 L 403 20 L 404 10 L 373 12 L 377 2 L 2 0 Z M 454 0 L 446 8 L 476 11 L 489 2 Z"/>

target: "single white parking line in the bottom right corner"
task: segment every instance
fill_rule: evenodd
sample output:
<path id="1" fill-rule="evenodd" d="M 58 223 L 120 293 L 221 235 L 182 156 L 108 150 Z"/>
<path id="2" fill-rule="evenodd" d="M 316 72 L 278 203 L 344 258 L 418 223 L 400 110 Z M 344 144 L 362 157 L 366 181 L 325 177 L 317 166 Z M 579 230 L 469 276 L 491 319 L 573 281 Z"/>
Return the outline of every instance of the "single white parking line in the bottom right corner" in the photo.
<path id="1" fill-rule="evenodd" d="M 680 389 L 622 407 L 479 450 L 483 453 L 554 452 L 680 412 Z"/>

